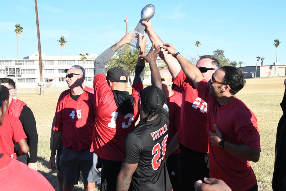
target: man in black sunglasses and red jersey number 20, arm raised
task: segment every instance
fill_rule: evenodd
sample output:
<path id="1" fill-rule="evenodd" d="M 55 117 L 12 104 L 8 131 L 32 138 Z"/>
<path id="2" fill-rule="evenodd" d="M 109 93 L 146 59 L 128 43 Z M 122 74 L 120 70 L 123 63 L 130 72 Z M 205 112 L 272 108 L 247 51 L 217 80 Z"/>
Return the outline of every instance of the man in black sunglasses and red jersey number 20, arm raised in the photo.
<path id="1" fill-rule="evenodd" d="M 154 42 L 155 46 L 162 45 L 162 40 L 153 30 L 151 20 L 143 23 L 151 42 Z M 194 185 L 197 180 L 209 177 L 207 104 L 198 96 L 194 84 L 186 77 L 176 59 L 162 49 L 159 56 L 168 65 L 173 83 L 182 92 L 177 135 L 181 149 L 178 157 L 178 189 L 190 190 L 190 185 Z M 209 80 L 220 67 L 220 63 L 214 56 L 205 55 L 200 57 L 196 67 L 200 69 L 204 78 Z"/>

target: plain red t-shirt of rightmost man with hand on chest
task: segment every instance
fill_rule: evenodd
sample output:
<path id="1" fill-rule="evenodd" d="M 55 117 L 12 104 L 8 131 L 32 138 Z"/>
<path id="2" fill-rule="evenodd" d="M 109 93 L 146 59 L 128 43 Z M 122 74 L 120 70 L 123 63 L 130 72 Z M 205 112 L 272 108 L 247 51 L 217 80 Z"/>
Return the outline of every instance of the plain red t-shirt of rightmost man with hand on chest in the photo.
<path id="1" fill-rule="evenodd" d="M 205 80 L 198 84 L 198 94 L 208 103 L 208 131 L 215 132 L 214 124 L 221 131 L 223 140 L 236 145 L 245 144 L 260 150 L 257 119 L 239 99 L 219 107 L 217 98 L 209 95 Z M 224 149 L 209 144 L 210 177 L 223 180 L 231 190 L 252 188 L 257 180 L 249 161 L 238 159 Z"/>

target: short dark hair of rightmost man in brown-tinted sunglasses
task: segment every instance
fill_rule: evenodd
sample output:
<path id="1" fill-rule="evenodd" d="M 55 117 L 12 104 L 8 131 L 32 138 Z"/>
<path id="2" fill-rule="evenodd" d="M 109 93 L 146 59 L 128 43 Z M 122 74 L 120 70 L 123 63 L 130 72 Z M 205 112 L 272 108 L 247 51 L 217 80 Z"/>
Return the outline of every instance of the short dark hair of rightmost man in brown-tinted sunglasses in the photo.
<path id="1" fill-rule="evenodd" d="M 237 67 L 233 66 L 223 66 L 220 68 L 225 73 L 223 77 L 223 83 L 228 84 L 231 88 L 229 93 L 235 95 L 239 90 L 241 90 L 246 84 L 245 74 L 243 71 Z"/>

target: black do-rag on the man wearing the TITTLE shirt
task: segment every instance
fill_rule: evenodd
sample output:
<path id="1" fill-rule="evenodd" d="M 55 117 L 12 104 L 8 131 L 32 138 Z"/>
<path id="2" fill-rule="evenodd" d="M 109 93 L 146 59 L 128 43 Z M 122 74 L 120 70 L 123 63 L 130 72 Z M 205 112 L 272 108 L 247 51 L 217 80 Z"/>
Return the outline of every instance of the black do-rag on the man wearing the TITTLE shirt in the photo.
<path id="1" fill-rule="evenodd" d="M 158 112 L 165 104 L 165 93 L 155 85 L 145 87 L 141 94 L 141 103 L 149 113 L 148 119 L 150 120 L 155 113 Z"/>

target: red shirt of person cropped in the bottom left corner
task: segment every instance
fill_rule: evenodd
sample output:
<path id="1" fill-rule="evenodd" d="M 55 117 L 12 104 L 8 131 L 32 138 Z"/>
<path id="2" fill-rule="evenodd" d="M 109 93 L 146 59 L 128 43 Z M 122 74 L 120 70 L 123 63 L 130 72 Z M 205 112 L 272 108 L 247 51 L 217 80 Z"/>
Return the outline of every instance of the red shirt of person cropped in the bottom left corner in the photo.
<path id="1" fill-rule="evenodd" d="M 0 185 L 1 190 L 55 190 L 41 173 L 7 155 L 0 158 Z"/>

